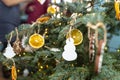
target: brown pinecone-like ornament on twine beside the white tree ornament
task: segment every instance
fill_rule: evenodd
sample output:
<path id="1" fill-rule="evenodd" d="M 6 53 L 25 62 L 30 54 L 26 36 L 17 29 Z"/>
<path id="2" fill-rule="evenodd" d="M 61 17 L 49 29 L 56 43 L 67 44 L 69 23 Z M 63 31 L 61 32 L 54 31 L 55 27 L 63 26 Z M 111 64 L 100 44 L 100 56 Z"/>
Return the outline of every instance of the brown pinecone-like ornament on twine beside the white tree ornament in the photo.
<path id="1" fill-rule="evenodd" d="M 22 43 L 19 39 L 19 34 L 18 34 L 17 28 L 15 28 L 15 31 L 16 31 L 16 41 L 13 43 L 13 50 L 18 55 L 18 54 L 22 53 L 24 51 L 24 49 L 23 49 Z"/>

